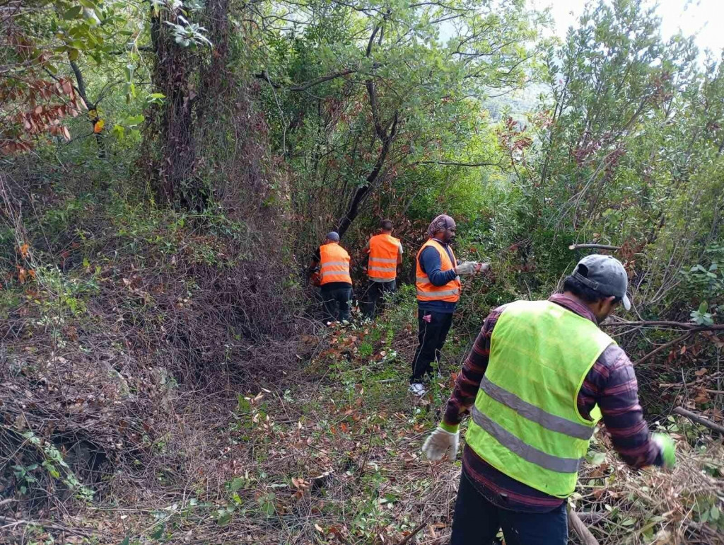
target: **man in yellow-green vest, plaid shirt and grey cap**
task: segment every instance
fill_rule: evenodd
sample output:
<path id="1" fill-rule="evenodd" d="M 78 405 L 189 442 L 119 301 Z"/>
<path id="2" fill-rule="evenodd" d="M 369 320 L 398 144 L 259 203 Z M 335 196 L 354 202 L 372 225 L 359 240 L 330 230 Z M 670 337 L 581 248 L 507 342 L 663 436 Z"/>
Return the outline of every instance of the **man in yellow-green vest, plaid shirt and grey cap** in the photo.
<path id="1" fill-rule="evenodd" d="M 649 433 L 633 365 L 598 324 L 631 302 L 628 275 L 589 255 L 546 301 L 515 301 L 488 315 L 442 423 L 422 450 L 455 459 L 470 413 L 451 545 L 568 543 L 566 498 L 602 417 L 632 467 L 675 464 L 668 436 Z"/>

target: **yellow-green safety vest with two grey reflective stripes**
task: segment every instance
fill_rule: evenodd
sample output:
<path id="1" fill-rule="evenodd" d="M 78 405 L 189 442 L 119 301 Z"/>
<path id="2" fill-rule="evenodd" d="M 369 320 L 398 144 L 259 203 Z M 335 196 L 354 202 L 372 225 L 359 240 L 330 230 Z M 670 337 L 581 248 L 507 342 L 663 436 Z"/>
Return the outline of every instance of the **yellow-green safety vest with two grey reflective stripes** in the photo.
<path id="1" fill-rule="evenodd" d="M 578 413 L 578 391 L 613 339 L 551 301 L 515 301 L 498 317 L 467 444 L 515 480 L 565 498 L 600 417 Z"/>

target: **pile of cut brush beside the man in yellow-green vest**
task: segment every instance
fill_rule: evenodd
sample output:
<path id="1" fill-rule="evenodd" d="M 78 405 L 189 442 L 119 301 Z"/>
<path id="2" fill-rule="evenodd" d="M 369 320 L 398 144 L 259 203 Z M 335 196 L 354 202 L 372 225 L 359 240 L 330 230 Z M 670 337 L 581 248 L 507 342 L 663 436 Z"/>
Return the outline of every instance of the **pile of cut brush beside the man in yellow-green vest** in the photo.
<path id="1" fill-rule="evenodd" d="M 598 434 L 571 503 L 600 545 L 724 544 L 724 446 L 683 418 L 665 424 L 677 443 L 670 472 L 630 470 Z"/>

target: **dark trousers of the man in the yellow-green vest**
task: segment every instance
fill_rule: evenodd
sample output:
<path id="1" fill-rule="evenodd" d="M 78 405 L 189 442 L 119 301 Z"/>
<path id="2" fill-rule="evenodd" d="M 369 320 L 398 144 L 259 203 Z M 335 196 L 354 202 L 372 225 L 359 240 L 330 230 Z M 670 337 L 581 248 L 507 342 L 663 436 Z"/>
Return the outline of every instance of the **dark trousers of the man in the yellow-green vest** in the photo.
<path id="1" fill-rule="evenodd" d="M 476 490 L 465 473 L 460 476 L 450 545 L 491 545 L 502 528 L 505 545 L 565 545 L 568 543 L 567 502 L 547 513 L 500 509 Z"/>

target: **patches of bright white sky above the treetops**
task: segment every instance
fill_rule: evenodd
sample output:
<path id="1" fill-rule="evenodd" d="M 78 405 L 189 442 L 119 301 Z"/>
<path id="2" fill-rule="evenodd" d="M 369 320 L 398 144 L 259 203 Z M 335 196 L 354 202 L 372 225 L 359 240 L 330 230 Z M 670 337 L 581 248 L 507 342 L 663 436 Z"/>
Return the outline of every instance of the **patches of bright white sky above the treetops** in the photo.
<path id="1" fill-rule="evenodd" d="M 531 0 L 539 9 L 551 7 L 555 33 L 565 38 L 568 27 L 583 12 L 586 0 Z M 715 53 L 724 48 L 724 0 L 658 0 L 657 14 L 661 17 L 661 33 L 668 39 L 682 30 L 685 36 L 696 34 L 700 50 Z M 649 1 L 653 5 L 654 1 Z"/>

